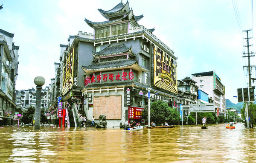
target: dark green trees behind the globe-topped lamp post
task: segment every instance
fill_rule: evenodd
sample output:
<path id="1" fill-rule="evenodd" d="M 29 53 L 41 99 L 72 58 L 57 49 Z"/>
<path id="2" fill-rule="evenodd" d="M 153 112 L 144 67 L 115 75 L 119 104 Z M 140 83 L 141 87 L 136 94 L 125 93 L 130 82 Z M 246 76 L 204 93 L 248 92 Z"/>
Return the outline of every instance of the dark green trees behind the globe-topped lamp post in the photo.
<path id="1" fill-rule="evenodd" d="M 31 124 L 33 116 L 35 114 L 35 107 L 29 106 L 27 111 L 22 112 L 21 122 L 24 124 Z M 44 109 L 41 110 L 40 122 L 47 122 L 47 117 L 44 115 Z"/>

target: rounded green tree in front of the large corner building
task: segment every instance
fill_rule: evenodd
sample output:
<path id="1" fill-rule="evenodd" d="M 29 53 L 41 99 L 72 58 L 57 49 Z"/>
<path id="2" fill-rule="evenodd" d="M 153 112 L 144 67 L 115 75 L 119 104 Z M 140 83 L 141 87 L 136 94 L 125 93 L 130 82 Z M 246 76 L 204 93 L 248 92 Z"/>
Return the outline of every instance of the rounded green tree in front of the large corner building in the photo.
<path id="1" fill-rule="evenodd" d="M 142 112 L 142 117 L 148 121 L 148 105 Z M 179 124 L 180 115 L 176 109 L 169 107 L 167 103 L 163 101 L 155 101 L 151 103 L 150 109 L 150 121 L 153 121 L 157 126 L 167 122 L 169 125 Z"/>

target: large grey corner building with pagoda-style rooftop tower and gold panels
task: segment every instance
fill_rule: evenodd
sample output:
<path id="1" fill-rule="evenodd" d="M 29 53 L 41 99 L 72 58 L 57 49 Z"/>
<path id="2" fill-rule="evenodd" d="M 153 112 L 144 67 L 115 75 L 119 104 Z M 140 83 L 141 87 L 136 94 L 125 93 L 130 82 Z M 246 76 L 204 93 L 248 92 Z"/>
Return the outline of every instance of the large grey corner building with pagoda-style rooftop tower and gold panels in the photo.
<path id="1" fill-rule="evenodd" d="M 137 119 L 150 100 L 177 104 L 177 57 L 154 34 L 139 25 L 129 3 L 108 11 L 104 22 L 85 22 L 94 34 L 70 36 L 61 46 L 61 96 L 81 101 L 88 119 L 105 115 L 108 125 Z M 157 93 L 157 94 L 156 94 Z"/>

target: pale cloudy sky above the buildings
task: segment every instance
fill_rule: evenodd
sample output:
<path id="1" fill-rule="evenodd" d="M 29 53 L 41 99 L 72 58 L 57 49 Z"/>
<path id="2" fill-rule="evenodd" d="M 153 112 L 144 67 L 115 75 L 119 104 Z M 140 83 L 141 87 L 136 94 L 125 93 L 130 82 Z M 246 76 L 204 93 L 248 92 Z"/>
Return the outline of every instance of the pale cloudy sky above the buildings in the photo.
<path id="1" fill-rule="evenodd" d="M 126 3 L 123 0 L 123 3 Z M 129 0 L 135 15 L 146 28 L 175 52 L 177 79 L 193 73 L 215 70 L 226 86 L 226 98 L 234 103 L 237 88 L 247 87 L 246 33 L 254 28 L 256 7 L 252 0 Z M 93 33 L 84 17 L 93 22 L 105 21 L 97 10 L 110 10 L 120 0 L 0 0 L 0 29 L 14 34 L 19 46 L 16 90 L 36 87 L 34 79 L 43 76 L 43 88 L 55 78 L 54 62 L 59 62 L 60 44 L 79 31 Z M 236 12 L 234 11 L 234 4 Z M 238 12 L 237 12 L 238 11 Z M 239 15 L 236 18 L 236 14 Z M 256 18 L 256 17 L 255 17 Z M 239 21 L 237 21 L 237 19 Z M 255 32 L 250 31 L 249 37 Z M 250 44 L 255 44 L 250 39 Z M 254 52 L 255 45 L 250 47 Z M 251 57 L 255 65 L 255 57 Z M 255 78 L 255 70 L 253 70 Z"/>

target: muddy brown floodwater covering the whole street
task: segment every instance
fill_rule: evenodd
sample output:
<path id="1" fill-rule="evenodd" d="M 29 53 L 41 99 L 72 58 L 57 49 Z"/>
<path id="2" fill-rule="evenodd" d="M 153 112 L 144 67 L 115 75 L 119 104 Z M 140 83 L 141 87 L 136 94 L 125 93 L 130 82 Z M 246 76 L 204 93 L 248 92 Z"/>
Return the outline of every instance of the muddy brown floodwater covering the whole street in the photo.
<path id="1" fill-rule="evenodd" d="M 125 131 L 31 126 L 0 128 L 0 162 L 255 163 L 256 129 L 235 124 Z"/>

